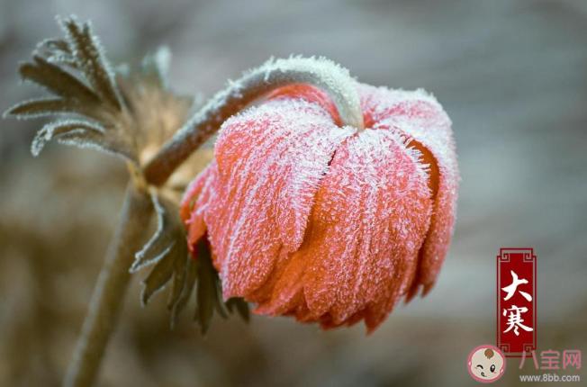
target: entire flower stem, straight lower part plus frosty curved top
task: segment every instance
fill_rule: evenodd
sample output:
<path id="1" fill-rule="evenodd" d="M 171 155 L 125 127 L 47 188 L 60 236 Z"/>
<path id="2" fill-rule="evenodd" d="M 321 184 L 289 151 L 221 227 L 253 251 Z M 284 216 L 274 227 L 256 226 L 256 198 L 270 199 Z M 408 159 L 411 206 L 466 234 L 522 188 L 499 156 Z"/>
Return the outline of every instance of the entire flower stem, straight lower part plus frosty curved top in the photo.
<path id="1" fill-rule="evenodd" d="M 147 184 L 161 185 L 177 166 L 199 148 L 223 121 L 249 103 L 277 87 L 292 84 L 316 85 L 326 91 L 337 106 L 344 125 L 363 130 L 363 114 L 356 81 L 348 70 L 327 59 L 289 58 L 266 62 L 244 74 L 214 95 L 178 130 L 140 171 L 131 168 L 122 216 L 114 234 L 108 256 L 90 302 L 74 358 L 68 367 L 65 386 L 90 386 L 95 382 L 104 350 L 122 307 L 123 295 L 131 279 L 129 269 L 135 253 L 144 242 L 152 212 Z"/>

